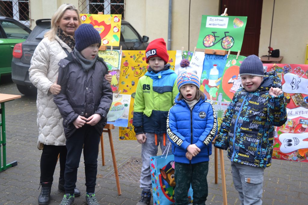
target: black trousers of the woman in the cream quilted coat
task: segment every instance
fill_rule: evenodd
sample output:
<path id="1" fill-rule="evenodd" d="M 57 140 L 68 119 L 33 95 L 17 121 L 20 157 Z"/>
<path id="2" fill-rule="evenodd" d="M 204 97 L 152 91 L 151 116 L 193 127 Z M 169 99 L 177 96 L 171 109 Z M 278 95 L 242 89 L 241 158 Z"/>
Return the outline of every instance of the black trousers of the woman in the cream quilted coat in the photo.
<path id="1" fill-rule="evenodd" d="M 42 156 L 41 156 L 41 177 L 42 182 L 53 182 L 55 167 L 57 164 L 58 156 L 60 154 L 60 178 L 64 179 L 65 162 L 67 149 L 66 146 L 55 146 L 44 144 Z"/>

